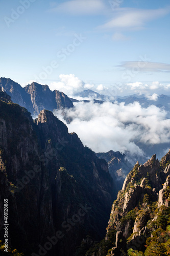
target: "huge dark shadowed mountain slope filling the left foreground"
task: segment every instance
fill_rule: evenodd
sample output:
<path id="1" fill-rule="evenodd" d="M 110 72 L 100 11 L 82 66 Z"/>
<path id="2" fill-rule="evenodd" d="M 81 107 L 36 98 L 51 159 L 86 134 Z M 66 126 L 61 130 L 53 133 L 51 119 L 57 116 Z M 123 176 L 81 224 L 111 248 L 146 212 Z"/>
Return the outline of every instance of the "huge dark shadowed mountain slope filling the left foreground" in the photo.
<path id="1" fill-rule="evenodd" d="M 8 200 L 11 253 L 72 256 L 87 235 L 99 240 L 105 234 L 113 200 L 107 163 L 52 112 L 33 120 L 0 95 L 0 212 Z M 4 242 L 3 227 L 1 218 Z"/>

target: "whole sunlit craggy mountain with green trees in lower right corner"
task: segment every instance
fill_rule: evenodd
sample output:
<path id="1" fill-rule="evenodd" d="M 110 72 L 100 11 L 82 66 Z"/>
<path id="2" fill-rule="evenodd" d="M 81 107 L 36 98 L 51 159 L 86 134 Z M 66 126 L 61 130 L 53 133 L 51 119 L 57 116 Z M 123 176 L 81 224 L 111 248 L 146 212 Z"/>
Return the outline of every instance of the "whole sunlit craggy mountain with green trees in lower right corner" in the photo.
<path id="1" fill-rule="evenodd" d="M 91 240 L 86 255 L 169 255 L 169 206 L 170 150 L 161 161 L 153 155 L 135 164 L 113 203 L 105 239 Z"/>

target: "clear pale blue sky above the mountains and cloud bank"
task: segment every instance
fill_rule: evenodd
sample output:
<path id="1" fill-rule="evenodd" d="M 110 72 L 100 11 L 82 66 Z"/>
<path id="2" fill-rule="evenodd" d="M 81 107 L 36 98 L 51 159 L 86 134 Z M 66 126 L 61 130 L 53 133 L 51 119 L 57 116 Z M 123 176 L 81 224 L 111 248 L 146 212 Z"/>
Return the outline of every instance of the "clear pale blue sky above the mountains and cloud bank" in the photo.
<path id="1" fill-rule="evenodd" d="M 2 0 L 1 77 L 169 83 L 169 0 Z"/>

